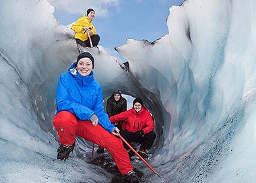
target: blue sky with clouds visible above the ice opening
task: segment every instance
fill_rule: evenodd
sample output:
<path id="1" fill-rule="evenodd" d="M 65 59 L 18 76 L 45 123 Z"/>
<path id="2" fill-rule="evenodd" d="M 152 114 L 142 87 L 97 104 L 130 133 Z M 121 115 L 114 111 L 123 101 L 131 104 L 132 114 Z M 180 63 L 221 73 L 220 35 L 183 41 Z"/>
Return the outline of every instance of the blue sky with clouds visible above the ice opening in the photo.
<path id="1" fill-rule="evenodd" d="M 55 17 L 64 26 L 93 8 L 96 16 L 92 23 L 100 36 L 99 45 L 114 56 L 116 46 L 126 43 L 127 38 L 154 42 L 168 34 L 166 19 L 172 5 L 184 0 L 49 0 L 55 7 Z M 122 57 L 119 57 L 123 59 Z"/>

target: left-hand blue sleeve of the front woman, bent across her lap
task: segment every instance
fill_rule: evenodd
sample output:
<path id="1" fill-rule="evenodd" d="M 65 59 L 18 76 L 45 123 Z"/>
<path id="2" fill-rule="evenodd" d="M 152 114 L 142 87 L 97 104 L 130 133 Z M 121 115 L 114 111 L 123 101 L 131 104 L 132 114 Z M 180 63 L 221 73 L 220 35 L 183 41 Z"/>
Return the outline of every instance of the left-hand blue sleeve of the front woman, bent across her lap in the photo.
<path id="1" fill-rule="evenodd" d="M 65 83 L 65 78 L 62 77 L 62 75 L 59 77 L 56 102 L 59 111 L 67 110 L 75 114 L 79 120 L 89 120 L 90 116 L 94 114 L 90 108 L 87 108 L 86 106 L 76 103 L 70 99 L 68 87 Z"/>

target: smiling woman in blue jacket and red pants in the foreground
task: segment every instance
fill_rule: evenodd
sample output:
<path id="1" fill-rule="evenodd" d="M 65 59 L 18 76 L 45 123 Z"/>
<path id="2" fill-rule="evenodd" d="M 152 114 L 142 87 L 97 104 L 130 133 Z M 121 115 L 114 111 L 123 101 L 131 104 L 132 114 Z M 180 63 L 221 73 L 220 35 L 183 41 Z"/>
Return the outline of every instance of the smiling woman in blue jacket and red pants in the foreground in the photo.
<path id="1" fill-rule="evenodd" d="M 111 124 L 102 105 L 102 87 L 94 79 L 94 57 L 83 52 L 57 86 L 57 114 L 53 125 L 59 135 L 57 159 L 65 160 L 75 147 L 75 135 L 106 148 L 121 174 L 129 182 L 141 182 L 133 171 L 127 151 L 123 147 L 119 129 Z"/>

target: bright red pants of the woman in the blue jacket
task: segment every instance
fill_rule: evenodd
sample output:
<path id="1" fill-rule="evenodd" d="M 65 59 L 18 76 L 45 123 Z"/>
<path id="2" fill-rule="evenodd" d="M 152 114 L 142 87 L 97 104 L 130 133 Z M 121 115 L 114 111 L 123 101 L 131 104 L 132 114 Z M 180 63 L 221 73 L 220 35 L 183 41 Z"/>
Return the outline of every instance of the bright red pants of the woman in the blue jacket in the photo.
<path id="1" fill-rule="evenodd" d="M 53 125 L 59 135 L 59 143 L 71 145 L 75 142 L 75 135 L 78 135 L 106 148 L 121 174 L 127 174 L 133 170 L 121 139 L 110 134 L 100 124 L 94 126 L 90 120 L 79 120 L 71 112 L 61 111 L 53 117 Z"/>

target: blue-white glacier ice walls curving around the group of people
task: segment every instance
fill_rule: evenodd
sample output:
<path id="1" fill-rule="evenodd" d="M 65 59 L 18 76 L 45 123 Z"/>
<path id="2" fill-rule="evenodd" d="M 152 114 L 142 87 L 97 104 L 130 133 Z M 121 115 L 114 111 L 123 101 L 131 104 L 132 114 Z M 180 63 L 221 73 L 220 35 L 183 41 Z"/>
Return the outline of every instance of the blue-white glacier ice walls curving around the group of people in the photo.
<path id="1" fill-rule="evenodd" d="M 141 96 L 156 120 L 144 182 L 256 182 L 256 1 L 187 0 L 170 7 L 169 34 L 127 39 L 96 59 L 104 98 L 116 88 Z M 92 144 L 57 161 L 52 125 L 59 75 L 76 60 L 73 31 L 42 1 L 1 1 L 0 182 L 111 182 L 87 163 Z M 163 17 L 164 21 L 166 17 Z"/>

